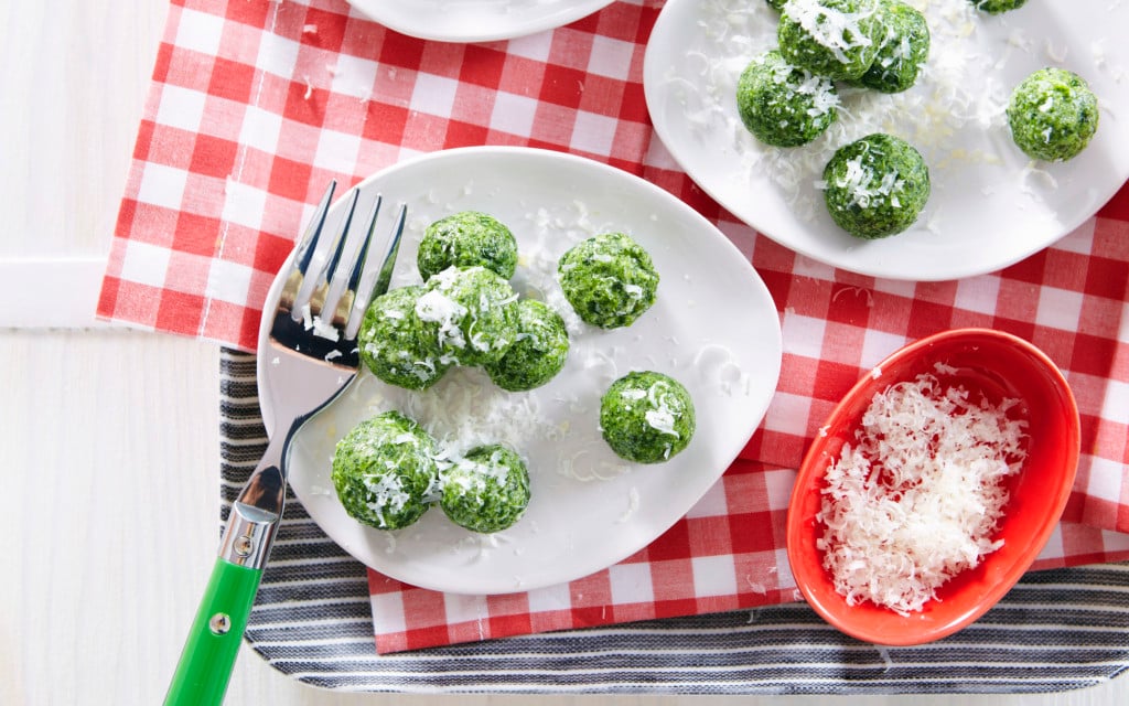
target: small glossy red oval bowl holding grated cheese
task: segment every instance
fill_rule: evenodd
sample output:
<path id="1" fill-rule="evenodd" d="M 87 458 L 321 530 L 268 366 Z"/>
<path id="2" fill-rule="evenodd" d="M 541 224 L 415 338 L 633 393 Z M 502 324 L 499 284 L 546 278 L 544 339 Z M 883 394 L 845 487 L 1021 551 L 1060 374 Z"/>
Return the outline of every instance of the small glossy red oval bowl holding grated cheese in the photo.
<path id="1" fill-rule="evenodd" d="M 1008 486 L 1009 499 L 995 535 L 1004 546 L 979 566 L 937 590 L 920 612 L 908 617 L 865 602 L 848 605 L 823 568 L 815 541 L 828 465 L 852 441 L 875 393 L 943 363 L 959 372 L 938 375 L 973 395 L 1021 401 L 1027 418 L 1027 457 Z M 973 399 L 975 399 L 973 396 Z M 1061 372 L 1027 341 L 989 329 L 944 331 L 905 346 L 851 387 L 808 447 L 788 507 L 788 560 L 796 584 L 817 613 L 835 628 L 879 645 L 918 645 L 952 635 L 988 611 L 1031 566 L 1058 524 L 1074 486 L 1080 444 L 1078 408 Z"/>

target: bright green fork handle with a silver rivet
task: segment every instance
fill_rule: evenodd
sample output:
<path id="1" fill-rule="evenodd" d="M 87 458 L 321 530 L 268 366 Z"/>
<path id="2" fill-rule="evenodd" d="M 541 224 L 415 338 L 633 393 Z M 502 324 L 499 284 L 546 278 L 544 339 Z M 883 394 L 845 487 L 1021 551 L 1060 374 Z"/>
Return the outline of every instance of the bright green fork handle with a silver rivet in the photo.
<path id="1" fill-rule="evenodd" d="M 166 706 L 224 701 L 262 575 L 261 568 L 216 559 L 165 696 Z"/>

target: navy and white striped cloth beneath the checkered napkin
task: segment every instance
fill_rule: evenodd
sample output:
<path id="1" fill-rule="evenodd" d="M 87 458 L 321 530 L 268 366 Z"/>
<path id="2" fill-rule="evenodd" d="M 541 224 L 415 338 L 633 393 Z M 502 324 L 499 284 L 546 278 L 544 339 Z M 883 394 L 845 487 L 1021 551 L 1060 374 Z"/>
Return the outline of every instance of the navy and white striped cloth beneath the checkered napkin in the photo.
<path id="1" fill-rule="evenodd" d="M 220 404 L 222 521 L 266 447 L 253 355 L 222 351 Z M 350 691 L 1061 691 L 1129 668 L 1129 564 L 1030 573 L 971 627 L 917 647 L 858 642 L 793 603 L 378 655 L 365 567 L 291 494 L 246 639 L 285 674 Z"/>

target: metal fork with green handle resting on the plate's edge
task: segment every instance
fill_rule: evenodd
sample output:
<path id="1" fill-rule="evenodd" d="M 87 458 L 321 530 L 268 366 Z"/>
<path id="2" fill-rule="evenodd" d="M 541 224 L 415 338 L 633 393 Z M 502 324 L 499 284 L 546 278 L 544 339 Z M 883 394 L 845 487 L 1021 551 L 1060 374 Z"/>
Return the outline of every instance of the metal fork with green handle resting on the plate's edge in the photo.
<path id="1" fill-rule="evenodd" d="M 323 237 L 335 182 L 331 182 L 289 260 L 290 270 L 271 313 L 259 356 L 260 396 L 273 412 L 262 461 L 231 505 L 219 556 L 165 704 L 219 704 L 243 642 L 251 607 L 286 504 L 290 443 L 301 426 L 356 378 L 357 333 L 365 310 L 388 289 L 406 218 L 401 204 L 379 269 L 367 265 L 383 199 L 364 227 L 353 225 L 360 191 L 353 189 L 341 226 Z M 268 315 L 264 312 L 264 316 Z M 264 322 L 265 325 L 265 322 Z"/>

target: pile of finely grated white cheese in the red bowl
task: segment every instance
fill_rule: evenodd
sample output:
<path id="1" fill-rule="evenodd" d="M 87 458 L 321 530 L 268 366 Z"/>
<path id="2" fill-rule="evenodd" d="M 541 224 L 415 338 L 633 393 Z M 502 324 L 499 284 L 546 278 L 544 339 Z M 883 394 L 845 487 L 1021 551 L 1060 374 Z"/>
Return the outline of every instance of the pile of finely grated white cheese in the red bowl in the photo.
<path id="1" fill-rule="evenodd" d="M 951 368 L 938 365 L 938 373 Z M 1026 456 L 1026 421 L 919 375 L 874 395 L 826 471 L 816 548 L 849 605 L 920 611 L 942 584 L 977 566 L 1007 504 L 1005 479 Z"/>

